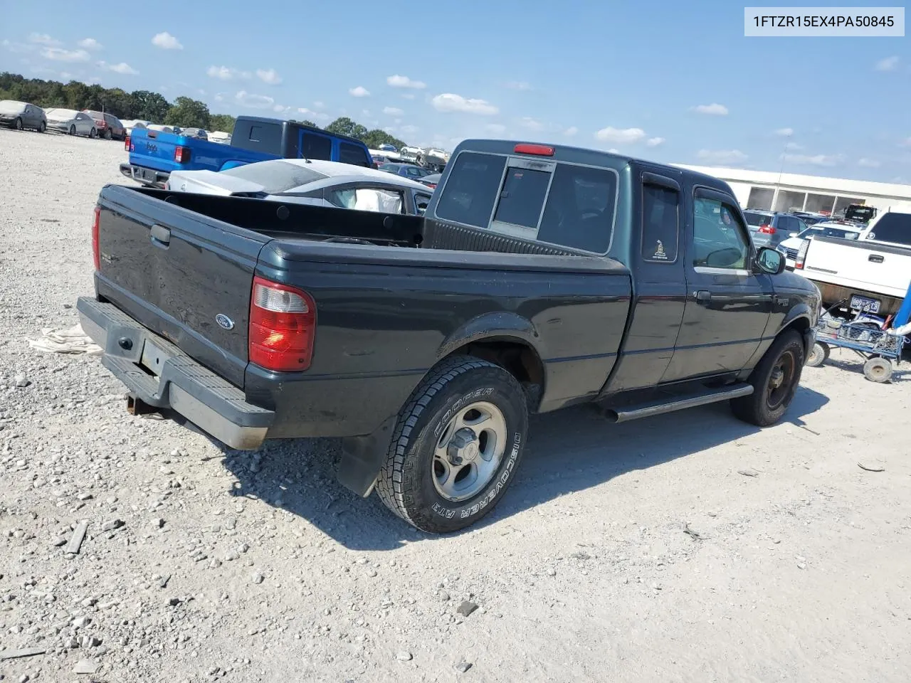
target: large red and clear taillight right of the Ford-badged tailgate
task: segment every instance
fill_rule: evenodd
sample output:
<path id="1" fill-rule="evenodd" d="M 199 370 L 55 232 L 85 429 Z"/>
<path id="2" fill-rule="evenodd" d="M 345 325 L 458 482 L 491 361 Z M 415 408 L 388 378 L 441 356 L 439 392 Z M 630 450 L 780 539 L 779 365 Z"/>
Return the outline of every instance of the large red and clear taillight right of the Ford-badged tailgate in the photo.
<path id="1" fill-rule="evenodd" d="M 260 277 L 250 301 L 250 362 L 275 372 L 310 367 L 316 335 L 316 303 L 310 294 Z"/>

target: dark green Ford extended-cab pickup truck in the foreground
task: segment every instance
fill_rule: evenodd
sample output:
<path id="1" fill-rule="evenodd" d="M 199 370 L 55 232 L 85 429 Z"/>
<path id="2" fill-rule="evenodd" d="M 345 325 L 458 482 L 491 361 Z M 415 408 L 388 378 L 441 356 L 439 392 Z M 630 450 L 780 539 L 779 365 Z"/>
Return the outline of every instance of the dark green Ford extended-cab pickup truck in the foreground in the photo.
<path id="1" fill-rule="evenodd" d="M 819 310 L 721 180 L 502 140 L 461 143 L 424 217 L 107 186 L 93 243 L 77 308 L 134 410 L 342 437 L 342 483 L 429 532 L 496 505 L 529 413 L 775 423 Z"/>

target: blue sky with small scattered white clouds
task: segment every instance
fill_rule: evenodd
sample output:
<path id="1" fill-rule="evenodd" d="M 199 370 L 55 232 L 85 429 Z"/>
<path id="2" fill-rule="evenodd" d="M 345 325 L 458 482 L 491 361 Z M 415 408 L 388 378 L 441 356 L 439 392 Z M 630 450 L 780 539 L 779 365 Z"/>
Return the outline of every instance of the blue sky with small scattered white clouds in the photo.
<path id="1" fill-rule="evenodd" d="M 746 38 L 743 5 L 714 0 L 118 6 L 5 4 L 0 70 L 445 148 L 521 138 L 911 182 L 906 37 Z"/>

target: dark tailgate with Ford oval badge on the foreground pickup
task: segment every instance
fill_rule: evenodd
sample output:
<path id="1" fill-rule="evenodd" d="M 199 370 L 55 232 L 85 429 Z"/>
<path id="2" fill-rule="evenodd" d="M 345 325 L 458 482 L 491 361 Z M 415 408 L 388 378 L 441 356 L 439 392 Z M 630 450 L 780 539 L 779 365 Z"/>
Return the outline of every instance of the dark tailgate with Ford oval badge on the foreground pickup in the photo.
<path id="1" fill-rule="evenodd" d="M 253 270 L 270 238 L 118 186 L 98 205 L 98 295 L 242 387 Z"/>

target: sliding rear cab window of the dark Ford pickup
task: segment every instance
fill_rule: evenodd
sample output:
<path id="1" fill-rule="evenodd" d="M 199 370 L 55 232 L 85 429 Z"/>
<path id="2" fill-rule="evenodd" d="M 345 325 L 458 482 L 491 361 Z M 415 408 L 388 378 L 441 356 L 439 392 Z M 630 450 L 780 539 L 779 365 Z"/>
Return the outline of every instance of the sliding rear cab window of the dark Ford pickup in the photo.
<path id="1" fill-rule="evenodd" d="M 606 254 L 618 175 L 611 168 L 462 152 L 436 206 L 439 219 L 501 235 Z"/>

